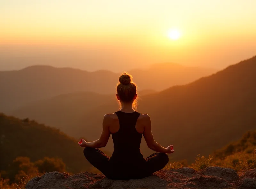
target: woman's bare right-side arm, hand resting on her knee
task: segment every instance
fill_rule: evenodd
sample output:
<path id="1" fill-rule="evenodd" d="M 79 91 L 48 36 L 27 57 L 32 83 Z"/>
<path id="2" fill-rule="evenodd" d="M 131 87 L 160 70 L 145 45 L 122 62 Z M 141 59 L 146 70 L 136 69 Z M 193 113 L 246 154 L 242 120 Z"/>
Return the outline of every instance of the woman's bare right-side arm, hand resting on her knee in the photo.
<path id="1" fill-rule="evenodd" d="M 173 153 L 174 150 L 171 150 L 171 146 L 168 147 L 162 147 L 160 144 L 158 144 L 153 137 L 152 131 L 151 131 L 151 120 L 148 114 L 145 114 L 145 126 L 144 126 L 144 132 L 143 136 L 147 142 L 148 147 L 151 150 L 154 150 L 156 152 L 162 152 L 162 153 Z"/>

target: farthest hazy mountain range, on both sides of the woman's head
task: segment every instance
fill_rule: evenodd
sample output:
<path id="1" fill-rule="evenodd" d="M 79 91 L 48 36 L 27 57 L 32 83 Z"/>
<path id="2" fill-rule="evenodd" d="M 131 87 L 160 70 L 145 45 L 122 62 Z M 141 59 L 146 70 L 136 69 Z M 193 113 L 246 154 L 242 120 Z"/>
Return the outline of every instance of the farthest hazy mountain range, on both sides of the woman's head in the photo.
<path id="1" fill-rule="evenodd" d="M 163 90 L 186 84 L 216 72 L 179 64 L 156 64 L 147 70 L 132 70 L 140 90 Z M 87 72 L 72 68 L 31 66 L 18 71 L 0 72 L 0 111 L 10 113 L 30 102 L 79 91 L 113 94 L 119 73 L 106 70 Z"/>

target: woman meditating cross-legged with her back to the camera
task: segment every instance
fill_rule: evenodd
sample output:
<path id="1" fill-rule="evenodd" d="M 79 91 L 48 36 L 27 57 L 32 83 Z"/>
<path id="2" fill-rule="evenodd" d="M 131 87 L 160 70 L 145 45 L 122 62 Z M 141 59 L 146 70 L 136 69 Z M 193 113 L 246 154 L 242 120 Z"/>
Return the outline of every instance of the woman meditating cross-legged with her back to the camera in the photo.
<path id="1" fill-rule="evenodd" d="M 107 178 L 115 180 L 139 179 L 161 170 L 168 163 L 168 154 L 174 152 L 172 145 L 166 148 L 155 142 L 151 132 L 148 114 L 140 114 L 133 109 L 137 98 L 137 87 L 127 73 L 119 77 L 116 97 L 121 103 L 121 110 L 106 114 L 100 139 L 78 144 L 84 148 L 85 158 Z M 105 147 L 110 134 L 114 143 L 114 152 L 109 158 L 97 148 Z M 140 153 L 142 135 L 150 149 L 158 152 L 144 159 Z"/>

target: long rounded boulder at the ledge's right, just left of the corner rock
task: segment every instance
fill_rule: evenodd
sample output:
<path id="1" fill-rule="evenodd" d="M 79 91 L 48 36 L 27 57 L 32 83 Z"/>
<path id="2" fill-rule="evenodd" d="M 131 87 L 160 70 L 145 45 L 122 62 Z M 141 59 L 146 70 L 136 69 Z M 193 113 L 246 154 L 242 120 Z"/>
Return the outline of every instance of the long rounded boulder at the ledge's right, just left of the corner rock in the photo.
<path id="1" fill-rule="evenodd" d="M 223 167 L 206 167 L 205 169 L 199 171 L 199 173 L 203 175 L 224 178 L 227 181 L 236 181 L 239 178 L 238 174 L 234 169 L 223 168 Z"/>

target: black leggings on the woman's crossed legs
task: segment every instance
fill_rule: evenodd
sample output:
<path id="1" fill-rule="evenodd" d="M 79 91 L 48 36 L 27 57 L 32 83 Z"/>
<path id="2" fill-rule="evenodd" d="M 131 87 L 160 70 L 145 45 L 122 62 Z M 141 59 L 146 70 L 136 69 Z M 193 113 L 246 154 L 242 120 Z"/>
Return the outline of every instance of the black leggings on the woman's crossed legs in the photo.
<path id="1" fill-rule="evenodd" d="M 85 147 L 84 156 L 94 167 L 102 172 L 107 178 L 114 180 L 140 179 L 150 176 L 161 170 L 168 163 L 169 158 L 165 153 L 154 153 L 146 159 L 139 161 L 126 158 L 125 161 L 109 161 L 110 158 L 96 148 Z M 125 162 L 125 163 L 124 163 Z"/>

